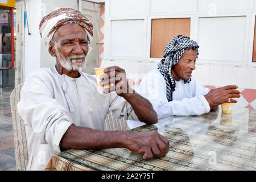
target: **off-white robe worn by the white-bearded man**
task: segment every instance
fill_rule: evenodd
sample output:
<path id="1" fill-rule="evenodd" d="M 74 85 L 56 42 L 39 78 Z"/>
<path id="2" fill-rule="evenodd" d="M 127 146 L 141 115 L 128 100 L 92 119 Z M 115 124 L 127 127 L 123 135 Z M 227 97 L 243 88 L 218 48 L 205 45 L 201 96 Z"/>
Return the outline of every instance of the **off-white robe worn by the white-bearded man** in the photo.
<path id="1" fill-rule="evenodd" d="M 28 170 L 42 170 L 60 152 L 60 140 L 71 125 L 104 129 L 106 115 L 137 120 L 131 105 L 115 92 L 99 92 L 96 77 L 59 75 L 55 67 L 41 68 L 26 78 L 18 113 L 24 120 Z"/>

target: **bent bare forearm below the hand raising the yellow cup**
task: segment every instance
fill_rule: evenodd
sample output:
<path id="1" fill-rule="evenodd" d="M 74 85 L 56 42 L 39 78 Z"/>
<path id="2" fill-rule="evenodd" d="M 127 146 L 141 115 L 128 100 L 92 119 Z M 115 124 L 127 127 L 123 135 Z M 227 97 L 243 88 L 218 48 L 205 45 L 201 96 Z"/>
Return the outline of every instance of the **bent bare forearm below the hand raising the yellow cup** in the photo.
<path id="1" fill-rule="evenodd" d="M 146 124 L 155 124 L 158 122 L 158 115 L 153 109 L 150 101 L 138 93 L 127 93 L 122 96 L 133 107 L 139 120 Z"/>

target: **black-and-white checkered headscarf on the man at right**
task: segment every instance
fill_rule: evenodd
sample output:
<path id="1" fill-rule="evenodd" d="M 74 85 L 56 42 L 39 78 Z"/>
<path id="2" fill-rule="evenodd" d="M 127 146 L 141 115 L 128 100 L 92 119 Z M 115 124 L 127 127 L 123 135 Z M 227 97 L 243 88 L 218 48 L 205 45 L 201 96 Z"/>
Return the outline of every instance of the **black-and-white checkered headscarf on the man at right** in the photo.
<path id="1" fill-rule="evenodd" d="M 158 69 L 160 73 L 163 75 L 164 80 L 166 81 L 167 86 L 167 94 L 166 97 L 168 101 L 172 101 L 172 92 L 174 92 L 176 84 L 174 80 L 174 76 L 171 73 L 171 68 L 179 61 L 180 57 L 187 49 L 194 49 L 197 51 L 197 55 L 199 55 L 197 43 L 187 36 L 176 35 L 174 39 L 166 44 L 164 48 L 164 53 L 162 59 L 158 63 Z M 189 83 L 191 78 L 188 80 L 184 80 L 185 83 Z"/>

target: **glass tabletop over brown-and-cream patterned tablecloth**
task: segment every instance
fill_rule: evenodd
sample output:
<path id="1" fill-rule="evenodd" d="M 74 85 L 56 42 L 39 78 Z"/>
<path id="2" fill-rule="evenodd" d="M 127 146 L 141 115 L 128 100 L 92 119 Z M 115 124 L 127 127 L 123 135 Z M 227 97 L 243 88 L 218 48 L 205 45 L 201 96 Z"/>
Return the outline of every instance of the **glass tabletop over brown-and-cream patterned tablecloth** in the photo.
<path id="1" fill-rule="evenodd" d="M 145 161 L 126 148 L 67 150 L 59 156 L 96 170 L 255 170 L 256 110 L 234 107 L 173 116 L 130 131 L 156 130 L 170 141 L 166 156 Z"/>

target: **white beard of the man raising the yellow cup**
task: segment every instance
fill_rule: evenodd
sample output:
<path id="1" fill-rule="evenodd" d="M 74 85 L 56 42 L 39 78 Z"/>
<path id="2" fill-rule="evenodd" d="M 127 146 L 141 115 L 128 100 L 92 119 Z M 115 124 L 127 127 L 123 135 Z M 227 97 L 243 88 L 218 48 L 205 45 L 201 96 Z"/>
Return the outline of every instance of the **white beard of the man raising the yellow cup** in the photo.
<path id="1" fill-rule="evenodd" d="M 67 69 L 67 71 L 81 71 L 82 68 L 85 67 L 85 54 L 68 56 L 67 59 L 61 59 L 59 51 L 56 49 L 56 55 L 57 59 L 60 61 L 61 67 Z"/>

